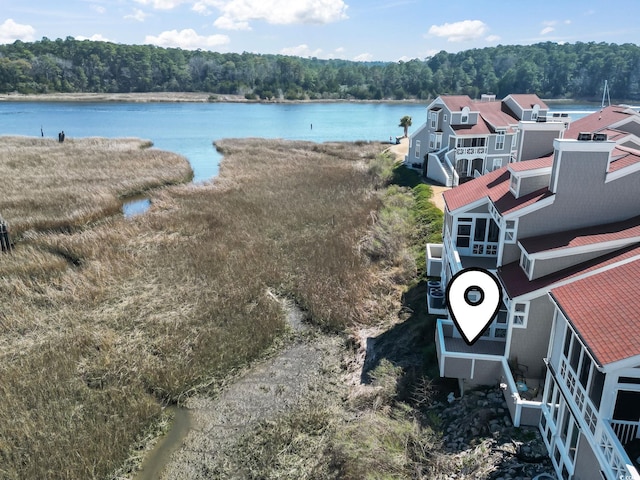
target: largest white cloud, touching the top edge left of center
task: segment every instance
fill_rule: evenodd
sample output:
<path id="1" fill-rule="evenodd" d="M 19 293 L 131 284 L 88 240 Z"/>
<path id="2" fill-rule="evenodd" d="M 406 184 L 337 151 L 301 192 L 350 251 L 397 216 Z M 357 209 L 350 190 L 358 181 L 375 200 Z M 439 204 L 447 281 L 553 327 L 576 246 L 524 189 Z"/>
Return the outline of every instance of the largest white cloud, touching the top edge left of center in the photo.
<path id="1" fill-rule="evenodd" d="M 347 18 L 343 0 L 201 0 L 199 5 L 212 5 L 222 15 L 216 21 L 235 25 L 252 20 L 274 25 L 324 24 Z"/>

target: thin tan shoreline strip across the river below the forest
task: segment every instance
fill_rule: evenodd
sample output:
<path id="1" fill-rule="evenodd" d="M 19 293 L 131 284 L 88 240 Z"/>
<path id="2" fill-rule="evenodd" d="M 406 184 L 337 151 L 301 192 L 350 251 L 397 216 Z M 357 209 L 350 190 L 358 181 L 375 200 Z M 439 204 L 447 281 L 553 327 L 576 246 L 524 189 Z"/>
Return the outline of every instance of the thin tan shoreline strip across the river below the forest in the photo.
<path id="1" fill-rule="evenodd" d="M 41 93 L 0 94 L 2 102 L 121 102 L 121 103 L 425 103 L 432 100 L 249 100 L 244 95 L 207 92 L 152 92 L 152 93 Z"/>

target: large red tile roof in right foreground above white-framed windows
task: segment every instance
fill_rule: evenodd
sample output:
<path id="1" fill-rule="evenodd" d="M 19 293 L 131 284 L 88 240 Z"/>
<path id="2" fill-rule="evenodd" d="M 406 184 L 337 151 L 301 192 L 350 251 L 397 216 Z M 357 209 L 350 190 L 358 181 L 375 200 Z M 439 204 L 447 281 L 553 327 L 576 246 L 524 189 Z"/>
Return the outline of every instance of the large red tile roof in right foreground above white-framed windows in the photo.
<path id="1" fill-rule="evenodd" d="M 551 290 L 600 365 L 640 355 L 640 260 Z"/>

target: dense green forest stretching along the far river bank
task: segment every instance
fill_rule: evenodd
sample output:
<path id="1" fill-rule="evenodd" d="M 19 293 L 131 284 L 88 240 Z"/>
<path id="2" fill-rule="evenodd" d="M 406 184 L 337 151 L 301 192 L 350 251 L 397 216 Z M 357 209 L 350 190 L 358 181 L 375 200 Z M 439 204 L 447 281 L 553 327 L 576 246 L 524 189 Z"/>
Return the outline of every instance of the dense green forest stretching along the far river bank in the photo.
<path id="1" fill-rule="evenodd" d="M 0 45 L 0 93 L 198 91 L 247 98 L 428 99 L 536 93 L 640 100 L 640 47 L 553 42 L 440 52 L 425 60 L 353 62 L 49 40 Z"/>

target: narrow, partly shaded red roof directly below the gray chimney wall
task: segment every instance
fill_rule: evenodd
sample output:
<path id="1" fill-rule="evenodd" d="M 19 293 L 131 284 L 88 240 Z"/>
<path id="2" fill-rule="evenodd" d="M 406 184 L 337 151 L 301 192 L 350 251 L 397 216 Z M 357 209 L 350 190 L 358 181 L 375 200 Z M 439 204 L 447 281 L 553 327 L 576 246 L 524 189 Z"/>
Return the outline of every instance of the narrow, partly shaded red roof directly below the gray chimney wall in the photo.
<path id="1" fill-rule="evenodd" d="M 640 241 L 640 216 L 621 222 L 539 235 L 519 241 L 527 253 L 538 253 L 634 238 Z"/>

